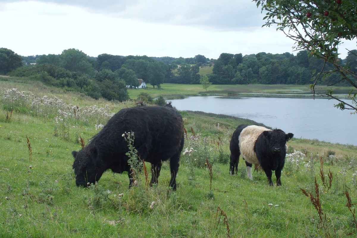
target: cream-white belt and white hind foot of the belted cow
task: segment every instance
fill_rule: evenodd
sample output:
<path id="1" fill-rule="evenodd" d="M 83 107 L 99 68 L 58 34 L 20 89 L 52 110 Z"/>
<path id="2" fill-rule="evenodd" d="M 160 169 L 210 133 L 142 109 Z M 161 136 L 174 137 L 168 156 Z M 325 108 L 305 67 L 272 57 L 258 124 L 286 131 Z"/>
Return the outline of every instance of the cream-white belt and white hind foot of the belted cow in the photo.
<path id="1" fill-rule="evenodd" d="M 252 125 L 244 128 L 239 135 L 239 149 L 241 151 L 241 155 L 248 163 L 259 164 L 257 154 L 254 152 L 254 145 L 255 141 L 258 139 L 258 136 L 262 134 L 263 131 L 267 130 L 270 129 L 267 129 L 263 126 Z M 250 176 L 252 176 L 252 172 L 250 172 Z"/>

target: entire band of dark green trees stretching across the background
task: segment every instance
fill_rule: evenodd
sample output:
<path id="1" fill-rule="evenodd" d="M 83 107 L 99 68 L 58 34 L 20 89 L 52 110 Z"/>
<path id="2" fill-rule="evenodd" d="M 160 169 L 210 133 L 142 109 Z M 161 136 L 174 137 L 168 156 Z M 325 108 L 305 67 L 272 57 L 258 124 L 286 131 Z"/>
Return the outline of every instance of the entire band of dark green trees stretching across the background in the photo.
<path id="1" fill-rule="evenodd" d="M 343 64 L 357 67 L 357 50 L 352 50 Z M 212 66 L 212 74 L 202 80 L 201 66 Z M 36 63 L 36 64 L 31 64 Z M 19 56 L 0 48 L 0 73 L 28 77 L 33 81 L 84 93 L 92 98 L 127 100 L 127 87 L 139 86 L 143 79 L 154 88 L 162 83 L 199 84 L 310 84 L 311 74 L 320 70 L 324 62 L 310 57 L 308 51 L 291 53 L 257 53 L 242 56 L 222 53 L 217 60 L 205 56 L 194 58 L 118 56 L 101 54 L 87 56 L 76 49 L 62 51 L 59 55 Z M 332 70 L 325 66 L 324 70 Z M 333 73 L 330 77 L 334 77 Z M 208 78 L 208 80 L 207 80 Z M 329 79 L 326 78 L 326 81 Z M 340 83 L 343 85 L 343 83 Z"/>

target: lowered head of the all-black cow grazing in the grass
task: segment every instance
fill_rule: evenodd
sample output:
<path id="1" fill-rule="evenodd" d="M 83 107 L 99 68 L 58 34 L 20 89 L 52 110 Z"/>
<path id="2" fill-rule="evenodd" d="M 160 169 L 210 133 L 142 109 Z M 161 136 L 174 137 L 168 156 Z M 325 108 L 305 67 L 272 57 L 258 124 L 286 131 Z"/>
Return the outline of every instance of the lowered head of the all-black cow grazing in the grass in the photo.
<path id="1" fill-rule="evenodd" d="M 74 163 L 72 168 L 76 175 L 76 185 L 88 187 L 91 183 L 97 182 L 102 176 L 104 169 L 97 161 L 97 149 L 86 147 L 80 151 L 72 151 Z"/>

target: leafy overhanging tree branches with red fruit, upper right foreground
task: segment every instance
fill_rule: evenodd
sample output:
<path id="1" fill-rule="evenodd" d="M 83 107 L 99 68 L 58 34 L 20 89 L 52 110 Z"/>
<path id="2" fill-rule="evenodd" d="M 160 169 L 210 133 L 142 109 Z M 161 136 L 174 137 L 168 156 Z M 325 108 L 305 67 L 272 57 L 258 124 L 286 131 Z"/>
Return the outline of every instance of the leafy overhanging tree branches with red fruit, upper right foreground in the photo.
<path id="1" fill-rule="evenodd" d="M 327 82 L 332 86 L 346 81 L 357 89 L 356 68 L 353 64 L 343 64 L 338 58 L 338 47 L 346 40 L 357 37 L 357 4 L 355 0 L 254 0 L 262 12 L 266 12 L 264 26 L 276 26 L 285 35 L 295 41 L 297 50 L 308 50 L 312 56 L 321 58 L 333 65 L 333 71 L 327 71 L 325 65 L 315 74 L 311 88 L 317 95 L 324 95 L 339 101 L 335 107 L 351 109 L 357 112 L 356 90 L 350 92 L 351 103 L 333 95 L 315 92 L 315 85 L 331 73 L 339 75 Z M 350 49 L 351 50 L 351 49 Z M 356 52 L 350 51 L 352 55 Z M 351 67 L 352 66 L 352 67 Z"/>

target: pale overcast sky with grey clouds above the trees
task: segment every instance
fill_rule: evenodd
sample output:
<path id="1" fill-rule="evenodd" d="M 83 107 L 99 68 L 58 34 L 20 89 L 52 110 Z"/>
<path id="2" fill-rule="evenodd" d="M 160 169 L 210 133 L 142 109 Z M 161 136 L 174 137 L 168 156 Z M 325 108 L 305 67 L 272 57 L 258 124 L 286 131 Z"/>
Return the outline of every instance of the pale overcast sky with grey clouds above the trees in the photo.
<path id="1" fill-rule="evenodd" d="M 0 47 L 22 56 L 75 48 L 89 56 L 217 59 L 290 52 L 294 41 L 264 24 L 250 0 L 0 0 Z M 356 42 L 340 46 L 341 58 Z"/>

